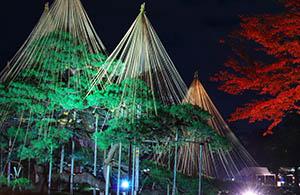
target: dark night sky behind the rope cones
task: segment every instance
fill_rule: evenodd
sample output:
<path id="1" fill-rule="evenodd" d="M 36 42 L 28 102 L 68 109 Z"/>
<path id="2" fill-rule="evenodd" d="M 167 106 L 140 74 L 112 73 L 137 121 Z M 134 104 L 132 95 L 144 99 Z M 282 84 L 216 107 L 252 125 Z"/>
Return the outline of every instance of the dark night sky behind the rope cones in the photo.
<path id="1" fill-rule="evenodd" d="M 44 0 L 9 0 L 1 2 L 0 64 L 12 58 L 37 23 Z M 50 1 L 51 3 L 52 1 Z M 82 3 L 109 51 L 121 40 L 144 1 L 82 0 Z M 228 46 L 219 40 L 239 28 L 239 15 L 272 13 L 281 7 L 276 0 L 149 0 L 146 12 L 169 56 L 187 85 L 199 70 L 199 78 L 211 99 L 224 116 L 242 102 L 243 96 L 232 96 L 217 89 L 209 77 L 223 69 Z M 254 129 L 235 123 L 238 129 Z"/>

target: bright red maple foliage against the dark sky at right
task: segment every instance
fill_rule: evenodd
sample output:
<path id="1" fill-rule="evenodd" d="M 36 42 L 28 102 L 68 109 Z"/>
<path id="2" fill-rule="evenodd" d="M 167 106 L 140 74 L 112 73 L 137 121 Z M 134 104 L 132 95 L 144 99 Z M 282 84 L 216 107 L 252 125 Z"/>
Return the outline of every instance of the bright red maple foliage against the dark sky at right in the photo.
<path id="1" fill-rule="evenodd" d="M 241 16 L 241 28 L 226 41 L 234 55 L 227 70 L 211 79 L 230 94 L 255 92 L 256 100 L 237 108 L 230 121 L 271 121 L 277 126 L 288 112 L 300 113 L 300 0 L 281 0 L 279 14 Z"/>

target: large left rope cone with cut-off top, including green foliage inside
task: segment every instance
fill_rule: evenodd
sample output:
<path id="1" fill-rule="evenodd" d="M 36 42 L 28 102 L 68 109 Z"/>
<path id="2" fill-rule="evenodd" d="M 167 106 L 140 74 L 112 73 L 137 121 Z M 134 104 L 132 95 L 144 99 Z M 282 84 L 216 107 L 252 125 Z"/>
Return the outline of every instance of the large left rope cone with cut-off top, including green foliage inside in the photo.
<path id="1" fill-rule="evenodd" d="M 35 158 L 51 164 L 55 150 L 70 139 L 90 139 L 95 115 L 106 114 L 84 97 L 105 60 L 106 49 L 80 0 L 46 4 L 0 74 L 0 139 L 9 142 L 7 161 Z"/>

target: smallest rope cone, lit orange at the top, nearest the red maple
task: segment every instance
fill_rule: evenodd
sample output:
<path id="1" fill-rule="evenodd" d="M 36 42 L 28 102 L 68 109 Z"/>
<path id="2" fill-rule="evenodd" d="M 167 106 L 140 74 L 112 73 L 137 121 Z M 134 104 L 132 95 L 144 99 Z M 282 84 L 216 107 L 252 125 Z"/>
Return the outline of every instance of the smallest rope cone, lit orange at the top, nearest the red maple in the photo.
<path id="1" fill-rule="evenodd" d="M 224 136 L 232 145 L 232 149 L 229 151 L 223 149 L 212 151 L 209 144 L 204 145 L 202 156 L 202 170 L 204 175 L 218 179 L 232 179 L 239 176 L 239 171 L 243 168 L 258 166 L 222 118 L 203 85 L 200 83 L 197 72 L 184 102 L 197 105 L 208 111 L 212 115 L 212 118 L 209 119 L 210 126 L 218 134 Z M 185 144 L 180 147 L 178 153 L 178 170 L 180 172 L 188 175 L 198 173 L 199 150 L 199 146 L 195 144 Z"/>

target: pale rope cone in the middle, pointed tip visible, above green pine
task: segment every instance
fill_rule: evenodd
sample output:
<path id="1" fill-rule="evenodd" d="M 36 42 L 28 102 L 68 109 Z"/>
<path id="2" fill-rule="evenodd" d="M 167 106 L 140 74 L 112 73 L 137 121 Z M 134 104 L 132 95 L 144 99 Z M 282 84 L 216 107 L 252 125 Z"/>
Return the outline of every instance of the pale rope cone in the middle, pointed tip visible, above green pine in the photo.
<path id="1" fill-rule="evenodd" d="M 126 79 L 145 82 L 158 95 L 155 97 L 154 93 L 149 93 L 149 98 L 158 98 L 165 105 L 179 104 L 187 91 L 184 81 L 146 16 L 144 5 L 119 45 L 107 58 L 105 66 L 94 78 L 91 91 L 100 81 L 107 80 L 105 85 L 108 85 L 120 84 Z M 132 82 L 130 86 L 126 86 L 128 87 L 136 92 L 139 84 Z M 124 102 L 121 101 L 120 106 L 122 104 Z M 132 112 L 136 112 L 136 109 Z"/>

